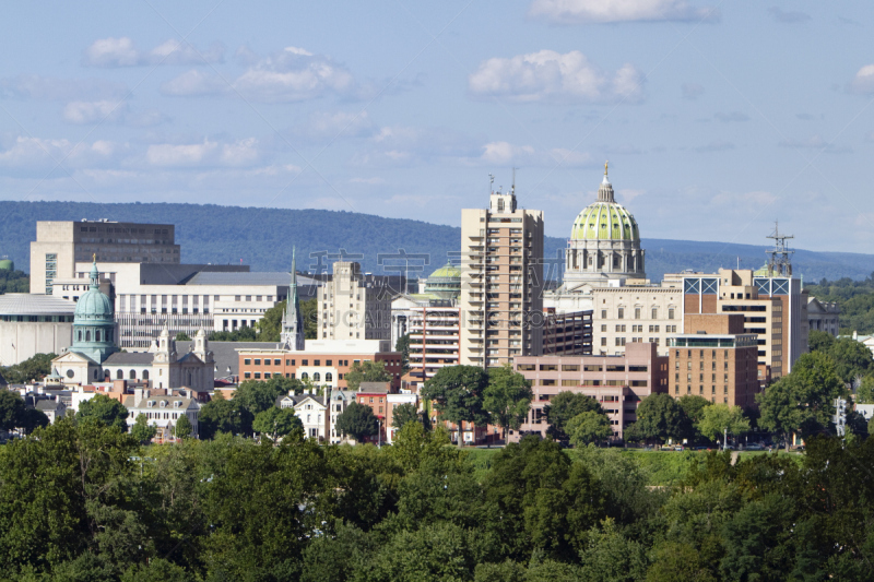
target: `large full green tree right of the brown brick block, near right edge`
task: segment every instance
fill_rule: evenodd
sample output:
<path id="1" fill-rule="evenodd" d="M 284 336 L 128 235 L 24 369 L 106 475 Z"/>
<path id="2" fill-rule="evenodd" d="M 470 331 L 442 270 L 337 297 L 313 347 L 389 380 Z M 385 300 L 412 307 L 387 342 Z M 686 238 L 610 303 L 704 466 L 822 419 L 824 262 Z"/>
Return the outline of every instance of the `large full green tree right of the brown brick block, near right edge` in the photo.
<path id="1" fill-rule="evenodd" d="M 812 435 L 829 426 L 835 399 L 847 389 L 835 372 L 834 360 L 819 352 L 803 354 L 792 372 L 756 394 L 761 409 L 759 425 L 780 432 L 789 450 L 789 435 Z"/>

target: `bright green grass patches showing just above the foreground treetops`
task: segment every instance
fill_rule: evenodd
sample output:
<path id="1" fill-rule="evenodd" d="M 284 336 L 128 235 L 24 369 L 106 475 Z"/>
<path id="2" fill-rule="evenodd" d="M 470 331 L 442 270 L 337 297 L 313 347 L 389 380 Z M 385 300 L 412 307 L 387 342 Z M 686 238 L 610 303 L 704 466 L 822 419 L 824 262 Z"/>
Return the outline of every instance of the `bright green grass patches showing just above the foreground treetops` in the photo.
<path id="1" fill-rule="evenodd" d="M 473 465 L 474 476 L 479 482 L 485 478 L 488 471 L 492 468 L 495 454 L 501 449 L 468 449 L 468 461 Z M 670 486 L 676 485 L 683 480 L 689 470 L 704 460 L 707 451 L 643 451 L 639 449 L 613 449 L 618 451 L 623 456 L 634 459 L 640 468 L 648 475 L 648 484 L 650 486 Z M 578 454 L 574 449 L 565 451 L 572 460 L 578 459 Z M 607 454 L 606 450 L 604 454 Z M 767 451 L 742 451 L 739 461 L 743 462 L 746 459 L 752 459 L 757 455 L 769 454 Z M 787 453 L 780 452 L 784 455 Z M 789 453 L 790 458 L 801 463 L 802 454 Z"/>

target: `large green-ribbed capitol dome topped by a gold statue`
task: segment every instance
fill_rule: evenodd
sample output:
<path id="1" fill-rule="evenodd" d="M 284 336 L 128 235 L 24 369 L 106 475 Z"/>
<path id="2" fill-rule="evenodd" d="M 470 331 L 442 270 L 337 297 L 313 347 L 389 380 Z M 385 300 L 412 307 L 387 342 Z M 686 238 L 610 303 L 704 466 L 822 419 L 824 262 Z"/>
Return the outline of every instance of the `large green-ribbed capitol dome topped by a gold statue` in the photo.
<path id="1" fill-rule="evenodd" d="M 565 256 L 565 284 L 603 284 L 610 280 L 646 278 L 637 221 L 616 202 L 613 185 L 604 178 L 598 200 L 577 215 Z"/>

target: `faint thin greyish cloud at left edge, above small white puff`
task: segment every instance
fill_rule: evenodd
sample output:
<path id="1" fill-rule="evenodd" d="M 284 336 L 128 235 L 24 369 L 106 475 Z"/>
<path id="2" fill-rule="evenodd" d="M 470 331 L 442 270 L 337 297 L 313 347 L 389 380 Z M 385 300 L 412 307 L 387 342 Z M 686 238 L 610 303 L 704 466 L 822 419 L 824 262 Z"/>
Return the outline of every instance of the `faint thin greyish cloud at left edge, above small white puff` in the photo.
<path id="1" fill-rule="evenodd" d="M 59 79 L 37 74 L 0 79 L 0 96 L 19 99 L 95 100 L 121 97 L 127 93 L 123 84 L 104 79 Z"/>

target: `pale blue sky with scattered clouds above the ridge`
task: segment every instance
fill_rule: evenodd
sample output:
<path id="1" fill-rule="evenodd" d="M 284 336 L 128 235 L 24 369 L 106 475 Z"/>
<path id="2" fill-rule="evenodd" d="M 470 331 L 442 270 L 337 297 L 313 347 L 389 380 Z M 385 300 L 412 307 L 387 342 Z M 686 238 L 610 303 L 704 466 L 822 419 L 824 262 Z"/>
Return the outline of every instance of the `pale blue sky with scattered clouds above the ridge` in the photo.
<path id="1" fill-rule="evenodd" d="M 458 226 L 516 168 L 567 237 L 610 161 L 645 238 L 779 219 L 874 253 L 872 27 L 864 1 L 8 2 L 0 200 Z"/>

